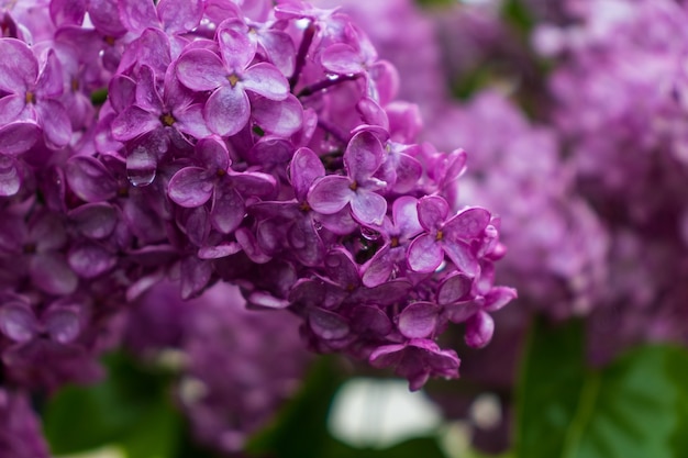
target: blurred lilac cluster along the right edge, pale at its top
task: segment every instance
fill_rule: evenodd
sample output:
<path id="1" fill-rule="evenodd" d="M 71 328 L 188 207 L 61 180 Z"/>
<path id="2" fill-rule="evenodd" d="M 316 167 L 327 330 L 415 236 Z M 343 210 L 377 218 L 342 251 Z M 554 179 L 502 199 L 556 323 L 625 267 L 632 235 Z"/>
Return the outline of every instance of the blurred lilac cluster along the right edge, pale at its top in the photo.
<path id="1" fill-rule="evenodd" d="M 565 2 L 567 26 L 534 43 L 561 65 L 550 80 L 554 123 L 580 192 L 610 227 L 611 273 L 592 336 L 618 346 L 687 342 L 686 52 L 683 2 Z M 575 88 L 570 85 L 575 83 Z M 601 359 L 613 353 L 598 342 Z"/>

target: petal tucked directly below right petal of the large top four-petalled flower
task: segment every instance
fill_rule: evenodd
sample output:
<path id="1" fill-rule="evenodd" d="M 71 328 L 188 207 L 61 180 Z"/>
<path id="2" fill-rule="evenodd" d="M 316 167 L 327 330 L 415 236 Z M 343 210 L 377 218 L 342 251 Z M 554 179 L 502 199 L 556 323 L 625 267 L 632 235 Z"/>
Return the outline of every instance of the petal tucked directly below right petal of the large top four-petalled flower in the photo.
<path id="1" fill-rule="evenodd" d="M 292 94 L 288 94 L 281 101 L 256 97 L 251 108 L 256 123 L 265 132 L 274 135 L 290 137 L 299 132 L 303 124 L 303 107 Z"/>

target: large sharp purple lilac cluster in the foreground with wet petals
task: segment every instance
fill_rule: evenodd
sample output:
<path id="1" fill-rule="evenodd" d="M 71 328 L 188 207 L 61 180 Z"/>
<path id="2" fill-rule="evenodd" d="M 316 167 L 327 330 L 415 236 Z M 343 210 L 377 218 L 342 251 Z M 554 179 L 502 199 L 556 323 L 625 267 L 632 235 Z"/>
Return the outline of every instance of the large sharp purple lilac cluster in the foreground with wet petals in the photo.
<path id="1" fill-rule="evenodd" d="M 486 345 L 504 253 L 457 210 L 466 154 L 415 144 L 398 75 L 300 1 L 35 0 L 2 10 L 3 383 L 98 375 L 127 304 L 168 278 L 287 309 L 317 351 L 457 377 Z M 107 90 L 107 100 L 99 93 Z"/>

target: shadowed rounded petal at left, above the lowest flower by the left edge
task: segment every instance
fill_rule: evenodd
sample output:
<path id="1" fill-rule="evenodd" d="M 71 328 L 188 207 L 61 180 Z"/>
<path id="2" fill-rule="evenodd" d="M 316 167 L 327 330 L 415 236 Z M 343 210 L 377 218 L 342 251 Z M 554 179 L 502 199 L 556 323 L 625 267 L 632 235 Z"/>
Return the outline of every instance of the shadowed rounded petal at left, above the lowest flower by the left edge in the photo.
<path id="1" fill-rule="evenodd" d="M 73 293 L 79 279 L 67 261 L 57 253 L 34 255 L 29 266 L 31 280 L 48 294 L 67 295 Z"/>

